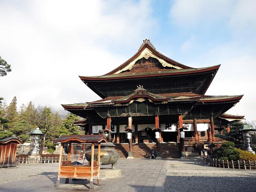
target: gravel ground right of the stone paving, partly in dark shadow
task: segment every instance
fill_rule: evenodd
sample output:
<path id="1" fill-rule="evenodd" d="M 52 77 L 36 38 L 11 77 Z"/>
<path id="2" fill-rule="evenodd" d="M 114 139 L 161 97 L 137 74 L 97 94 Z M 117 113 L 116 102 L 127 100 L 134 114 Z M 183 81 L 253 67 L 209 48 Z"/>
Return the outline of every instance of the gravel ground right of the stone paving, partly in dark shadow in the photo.
<path id="1" fill-rule="evenodd" d="M 195 173 L 178 173 L 181 170 Z M 209 167 L 202 159 L 170 160 L 166 175 L 165 192 L 256 192 L 256 170 Z"/>

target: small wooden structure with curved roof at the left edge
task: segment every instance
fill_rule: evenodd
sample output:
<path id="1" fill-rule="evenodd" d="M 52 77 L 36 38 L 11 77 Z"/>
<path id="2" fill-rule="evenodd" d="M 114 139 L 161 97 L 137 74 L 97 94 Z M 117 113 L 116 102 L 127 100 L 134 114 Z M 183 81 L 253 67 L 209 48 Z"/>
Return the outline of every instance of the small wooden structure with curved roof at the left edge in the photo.
<path id="1" fill-rule="evenodd" d="M 0 167 L 16 166 L 17 145 L 23 142 L 16 137 L 6 137 L 0 139 Z"/>

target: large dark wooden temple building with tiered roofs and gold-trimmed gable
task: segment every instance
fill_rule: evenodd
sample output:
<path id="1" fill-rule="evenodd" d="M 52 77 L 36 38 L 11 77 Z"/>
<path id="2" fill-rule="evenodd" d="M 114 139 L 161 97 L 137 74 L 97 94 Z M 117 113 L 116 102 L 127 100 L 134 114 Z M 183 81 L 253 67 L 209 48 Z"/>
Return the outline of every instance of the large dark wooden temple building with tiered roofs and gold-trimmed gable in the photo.
<path id="1" fill-rule="evenodd" d="M 188 67 L 162 55 L 146 39 L 116 69 L 100 76 L 79 76 L 102 99 L 62 107 L 84 118 L 79 123 L 86 134 L 109 129 L 117 144 L 128 142 L 127 128 L 132 130 L 132 143 L 158 139 L 160 150 L 164 143 L 180 143 L 181 128 L 185 141 L 214 142 L 215 133 L 244 118 L 225 114 L 243 95 L 205 95 L 219 67 Z"/>

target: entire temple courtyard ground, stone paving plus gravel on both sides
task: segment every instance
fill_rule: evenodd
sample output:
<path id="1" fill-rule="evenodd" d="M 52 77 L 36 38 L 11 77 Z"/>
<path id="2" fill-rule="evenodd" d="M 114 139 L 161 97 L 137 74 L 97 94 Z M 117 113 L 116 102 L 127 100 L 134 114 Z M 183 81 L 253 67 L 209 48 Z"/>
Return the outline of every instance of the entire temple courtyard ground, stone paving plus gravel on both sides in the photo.
<path id="1" fill-rule="evenodd" d="M 102 166 L 110 168 L 110 165 Z M 200 158 L 119 159 L 122 176 L 100 180 L 97 192 L 252 192 L 256 191 L 256 170 L 209 167 Z M 0 192 L 89 191 L 88 180 L 65 184 L 57 179 L 58 164 L 21 164 L 0 169 Z M 104 179 L 104 178 L 103 178 Z"/>

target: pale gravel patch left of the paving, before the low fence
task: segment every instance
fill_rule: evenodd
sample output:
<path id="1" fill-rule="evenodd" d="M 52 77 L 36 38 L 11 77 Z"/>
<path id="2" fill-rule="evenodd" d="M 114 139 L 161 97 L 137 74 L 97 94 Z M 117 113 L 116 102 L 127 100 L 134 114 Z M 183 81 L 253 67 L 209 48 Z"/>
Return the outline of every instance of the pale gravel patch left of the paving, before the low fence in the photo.
<path id="1" fill-rule="evenodd" d="M 57 174 L 59 163 L 20 164 L 17 167 L 0 168 L 0 184 L 24 180 L 41 175 Z"/>

